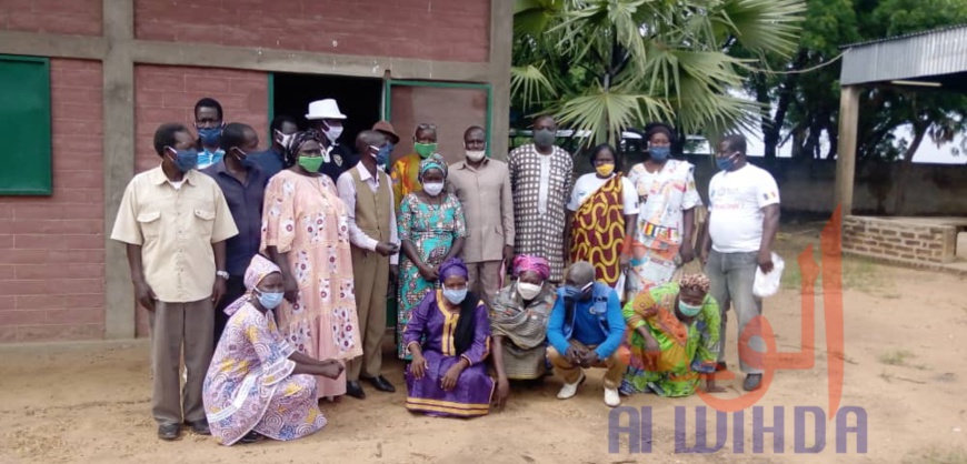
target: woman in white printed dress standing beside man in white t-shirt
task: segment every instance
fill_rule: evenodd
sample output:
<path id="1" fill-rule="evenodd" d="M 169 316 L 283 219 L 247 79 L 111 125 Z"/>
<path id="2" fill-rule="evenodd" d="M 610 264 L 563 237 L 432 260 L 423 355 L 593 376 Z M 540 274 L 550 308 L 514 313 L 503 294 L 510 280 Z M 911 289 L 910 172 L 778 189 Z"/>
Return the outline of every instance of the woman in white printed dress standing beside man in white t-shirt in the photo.
<path id="1" fill-rule="evenodd" d="M 701 205 L 695 167 L 668 159 L 675 130 L 649 124 L 645 137 L 649 158 L 628 173 L 638 192 L 634 240 L 626 240 L 624 258 L 630 264 L 626 286 L 631 295 L 668 283 L 678 266 L 695 259 L 695 208 Z"/>

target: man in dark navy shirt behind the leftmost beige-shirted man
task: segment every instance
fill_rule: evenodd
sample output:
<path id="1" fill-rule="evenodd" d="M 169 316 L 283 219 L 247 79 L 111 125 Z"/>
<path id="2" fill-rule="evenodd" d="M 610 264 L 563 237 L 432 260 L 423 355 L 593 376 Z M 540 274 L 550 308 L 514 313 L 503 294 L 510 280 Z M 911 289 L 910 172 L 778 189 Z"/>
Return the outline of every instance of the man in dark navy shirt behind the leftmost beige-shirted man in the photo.
<path id="1" fill-rule="evenodd" d="M 232 122 L 225 127 L 220 139 L 225 158 L 201 172 L 208 174 L 225 194 L 228 209 L 238 228 L 238 235 L 226 241 L 226 270 L 221 275 L 228 282 L 225 297 L 215 307 L 215 345 L 228 324 L 223 310 L 246 293 L 245 274 L 252 258 L 259 253 L 262 236 L 262 201 L 269 176 L 252 163 L 250 153 L 259 147 L 259 134 L 248 124 Z"/>

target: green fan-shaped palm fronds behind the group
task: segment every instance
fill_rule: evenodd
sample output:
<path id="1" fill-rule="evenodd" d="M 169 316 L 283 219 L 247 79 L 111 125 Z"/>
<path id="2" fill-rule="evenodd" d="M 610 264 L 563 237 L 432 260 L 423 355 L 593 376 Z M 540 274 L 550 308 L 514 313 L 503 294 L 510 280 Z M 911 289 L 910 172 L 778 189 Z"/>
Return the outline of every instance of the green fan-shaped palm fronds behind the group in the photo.
<path id="1" fill-rule="evenodd" d="M 796 49 L 802 0 L 515 0 L 511 94 L 619 140 L 646 121 L 717 135 L 751 128 L 758 107 L 735 94 L 737 72 Z M 735 44 L 757 60 L 731 57 Z"/>

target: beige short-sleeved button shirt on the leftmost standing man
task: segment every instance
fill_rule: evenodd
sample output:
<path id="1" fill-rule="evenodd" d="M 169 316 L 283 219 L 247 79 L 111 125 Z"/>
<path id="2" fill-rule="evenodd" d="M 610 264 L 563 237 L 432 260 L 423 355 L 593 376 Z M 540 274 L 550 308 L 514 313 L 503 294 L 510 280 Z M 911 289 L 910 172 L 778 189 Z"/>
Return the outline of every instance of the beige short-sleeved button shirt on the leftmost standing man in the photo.
<path id="1" fill-rule="evenodd" d="M 188 303 L 211 296 L 211 244 L 236 234 L 215 180 L 191 170 L 176 189 L 159 165 L 128 183 L 111 239 L 141 246 L 144 280 L 159 301 Z"/>

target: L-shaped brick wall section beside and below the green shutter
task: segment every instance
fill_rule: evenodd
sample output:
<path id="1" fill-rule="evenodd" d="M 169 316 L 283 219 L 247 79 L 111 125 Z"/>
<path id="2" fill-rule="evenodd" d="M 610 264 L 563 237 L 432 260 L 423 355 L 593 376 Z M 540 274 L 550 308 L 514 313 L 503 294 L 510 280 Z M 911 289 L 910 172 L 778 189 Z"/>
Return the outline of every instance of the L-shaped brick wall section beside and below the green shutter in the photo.
<path id="1" fill-rule="evenodd" d="M 104 331 L 101 63 L 52 59 L 50 83 L 53 195 L 0 198 L 0 342 Z"/>

